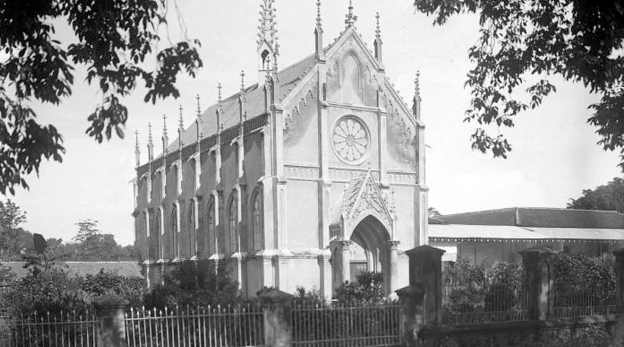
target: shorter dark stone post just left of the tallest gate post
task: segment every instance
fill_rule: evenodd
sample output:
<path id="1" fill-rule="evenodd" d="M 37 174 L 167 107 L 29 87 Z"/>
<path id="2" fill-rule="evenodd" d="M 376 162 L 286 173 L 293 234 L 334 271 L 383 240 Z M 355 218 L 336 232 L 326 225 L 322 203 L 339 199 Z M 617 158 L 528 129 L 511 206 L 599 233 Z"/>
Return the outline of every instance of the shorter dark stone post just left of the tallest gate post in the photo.
<path id="1" fill-rule="evenodd" d="M 401 321 L 399 332 L 401 346 L 419 347 L 421 337 L 418 333 L 424 327 L 424 285 L 408 285 L 397 290 L 401 303 Z"/>

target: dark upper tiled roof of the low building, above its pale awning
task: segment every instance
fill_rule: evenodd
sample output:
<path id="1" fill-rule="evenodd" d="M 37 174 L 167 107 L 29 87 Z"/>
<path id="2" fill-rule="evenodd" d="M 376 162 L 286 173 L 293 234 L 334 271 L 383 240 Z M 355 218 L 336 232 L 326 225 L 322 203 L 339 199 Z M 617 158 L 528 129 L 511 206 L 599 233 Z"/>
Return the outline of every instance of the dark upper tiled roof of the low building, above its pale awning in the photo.
<path id="1" fill-rule="evenodd" d="M 563 208 L 503 208 L 446 214 L 444 223 L 528 226 L 545 228 L 624 228 L 624 214 L 616 211 L 569 210 Z"/>

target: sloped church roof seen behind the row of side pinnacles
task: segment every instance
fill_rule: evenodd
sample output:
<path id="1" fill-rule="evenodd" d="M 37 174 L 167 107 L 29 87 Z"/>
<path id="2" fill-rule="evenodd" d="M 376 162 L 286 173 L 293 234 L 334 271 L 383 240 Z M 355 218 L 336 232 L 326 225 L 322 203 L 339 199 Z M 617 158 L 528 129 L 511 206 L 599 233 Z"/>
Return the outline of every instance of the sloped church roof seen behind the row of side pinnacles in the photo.
<path id="1" fill-rule="evenodd" d="M 315 63 L 315 55 L 311 54 L 307 56 L 303 60 L 299 62 L 295 62 L 295 64 L 278 71 L 277 79 L 279 80 L 279 90 L 276 94 L 277 100 L 284 99 L 285 96 L 288 95 L 289 92 L 293 89 L 297 82 L 299 82 L 304 76 L 306 76 L 306 72 L 313 66 Z M 259 85 L 259 83 L 255 83 L 250 87 L 245 89 L 245 99 L 247 100 L 247 115 L 248 119 L 253 117 L 257 117 L 264 112 L 264 91 L 263 84 Z M 232 94 L 232 96 L 228 96 L 226 99 L 221 101 L 221 108 L 223 109 L 223 114 L 221 115 L 221 123 L 223 124 L 223 128 L 232 128 L 239 124 L 239 93 Z M 210 105 L 207 110 L 202 112 L 201 116 L 201 129 L 203 137 L 209 137 L 211 135 L 216 134 L 216 110 L 218 105 L 215 103 Z M 193 124 L 189 126 L 185 131 L 182 137 L 182 142 L 184 145 L 192 144 L 197 141 L 197 122 L 193 121 Z M 167 151 L 171 153 L 172 151 L 177 151 L 179 149 L 179 141 L 177 137 L 169 144 L 167 147 Z M 162 153 L 161 153 L 162 156 Z"/>

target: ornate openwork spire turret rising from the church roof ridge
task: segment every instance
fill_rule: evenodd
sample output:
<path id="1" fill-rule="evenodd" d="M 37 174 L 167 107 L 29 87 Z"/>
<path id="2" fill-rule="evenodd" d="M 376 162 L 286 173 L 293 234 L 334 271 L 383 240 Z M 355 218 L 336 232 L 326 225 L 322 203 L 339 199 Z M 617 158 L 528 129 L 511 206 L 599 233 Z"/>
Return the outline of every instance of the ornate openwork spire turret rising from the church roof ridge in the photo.
<path id="1" fill-rule="evenodd" d="M 258 83 L 267 70 L 271 69 L 270 57 L 277 54 L 277 28 L 275 27 L 275 0 L 263 0 L 260 4 L 260 25 L 258 26 Z"/>

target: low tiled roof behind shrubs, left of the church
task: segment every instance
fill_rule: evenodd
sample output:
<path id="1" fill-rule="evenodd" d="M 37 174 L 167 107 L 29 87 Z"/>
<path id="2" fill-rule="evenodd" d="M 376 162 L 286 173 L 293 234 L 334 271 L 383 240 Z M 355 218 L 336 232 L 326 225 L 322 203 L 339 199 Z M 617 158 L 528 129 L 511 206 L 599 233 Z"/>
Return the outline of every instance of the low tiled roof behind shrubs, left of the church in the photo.
<path id="1" fill-rule="evenodd" d="M 96 275 L 103 269 L 104 271 L 128 278 L 143 277 L 141 275 L 141 266 L 137 262 L 61 262 L 60 264 L 69 274 L 76 276 Z M 26 262 L 3 262 L 0 265 L 0 280 L 3 278 L 18 279 L 28 276 L 28 269 L 25 269 L 24 265 L 26 265 Z M 67 267 L 64 265 L 67 265 Z M 3 271 L 5 269 L 6 271 Z"/>

